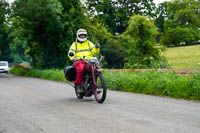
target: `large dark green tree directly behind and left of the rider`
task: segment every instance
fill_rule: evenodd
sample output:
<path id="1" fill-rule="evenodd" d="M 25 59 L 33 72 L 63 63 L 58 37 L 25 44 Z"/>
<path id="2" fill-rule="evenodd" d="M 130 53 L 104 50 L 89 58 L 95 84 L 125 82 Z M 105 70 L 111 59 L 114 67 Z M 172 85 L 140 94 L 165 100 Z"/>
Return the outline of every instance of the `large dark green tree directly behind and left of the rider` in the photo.
<path id="1" fill-rule="evenodd" d="M 76 31 L 87 26 L 80 0 L 16 0 L 13 24 L 20 27 L 37 68 L 62 68 Z M 51 55 L 51 56 L 49 56 Z"/>

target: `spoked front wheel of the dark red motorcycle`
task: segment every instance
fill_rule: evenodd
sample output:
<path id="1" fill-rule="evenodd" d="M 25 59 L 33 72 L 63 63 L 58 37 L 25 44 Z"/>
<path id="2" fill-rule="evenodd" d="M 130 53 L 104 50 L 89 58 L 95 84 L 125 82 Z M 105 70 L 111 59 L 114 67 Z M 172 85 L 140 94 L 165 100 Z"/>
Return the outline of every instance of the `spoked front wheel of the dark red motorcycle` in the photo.
<path id="1" fill-rule="evenodd" d="M 97 86 L 94 88 L 95 99 L 98 103 L 103 103 L 106 99 L 106 80 L 102 73 L 97 73 L 96 79 Z"/>

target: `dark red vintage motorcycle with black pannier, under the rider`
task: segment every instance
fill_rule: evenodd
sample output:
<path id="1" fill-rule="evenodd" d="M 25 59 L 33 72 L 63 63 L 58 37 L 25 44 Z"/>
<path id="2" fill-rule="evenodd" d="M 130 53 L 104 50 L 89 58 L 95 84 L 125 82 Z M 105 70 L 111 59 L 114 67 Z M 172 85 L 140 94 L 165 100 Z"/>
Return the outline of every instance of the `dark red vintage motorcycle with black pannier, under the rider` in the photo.
<path id="1" fill-rule="evenodd" d="M 86 71 L 84 73 L 83 83 L 81 85 L 83 92 L 79 93 L 74 84 L 71 84 L 75 88 L 75 94 L 77 98 L 83 99 L 83 97 L 91 97 L 94 95 L 98 103 L 103 103 L 106 99 L 107 88 L 106 80 L 101 72 L 98 59 L 96 57 L 92 57 L 89 60 L 80 60 L 83 60 L 86 64 Z M 74 66 L 66 67 L 64 69 L 64 73 L 68 81 L 75 81 L 76 69 Z"/>

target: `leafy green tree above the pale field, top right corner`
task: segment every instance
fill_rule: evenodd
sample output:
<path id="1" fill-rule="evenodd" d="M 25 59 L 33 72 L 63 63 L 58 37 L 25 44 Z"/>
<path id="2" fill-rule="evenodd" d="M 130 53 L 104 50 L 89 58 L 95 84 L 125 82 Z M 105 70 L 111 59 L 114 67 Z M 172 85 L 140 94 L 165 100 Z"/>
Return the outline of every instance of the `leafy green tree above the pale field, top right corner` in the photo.
<path id="1" fill-rule="evenodd" d="M 200 40 L 200 1 L 174 0 L 168 2 L 167 20 L 161 43 L 167 46 L 193 44 Z"/>

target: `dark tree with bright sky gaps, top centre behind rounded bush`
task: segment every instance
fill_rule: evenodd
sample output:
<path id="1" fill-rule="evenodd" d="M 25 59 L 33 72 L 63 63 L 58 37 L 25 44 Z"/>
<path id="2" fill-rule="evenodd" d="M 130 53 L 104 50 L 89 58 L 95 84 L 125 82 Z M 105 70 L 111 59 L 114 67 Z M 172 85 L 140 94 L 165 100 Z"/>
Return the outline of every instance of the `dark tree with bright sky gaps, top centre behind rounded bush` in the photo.
<path id="1" fill-rule="evenodd" d="M 86 7 L 92 17 L 100 20 L 113 34 L 121 34 L 128 27 L 133 14 L 154 16 L 153 0 L 87 0 Z"/>

